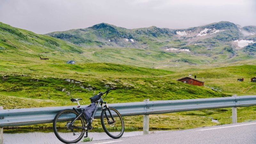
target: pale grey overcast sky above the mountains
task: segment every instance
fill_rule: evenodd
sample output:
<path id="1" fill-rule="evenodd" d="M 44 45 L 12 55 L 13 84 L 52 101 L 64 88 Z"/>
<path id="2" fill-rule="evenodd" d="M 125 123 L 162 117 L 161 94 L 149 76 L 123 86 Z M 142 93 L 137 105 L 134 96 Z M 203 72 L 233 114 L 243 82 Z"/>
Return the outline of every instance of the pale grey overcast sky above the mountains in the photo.
<path id="1" fill-rule="evenodd" d="M 0 22 L 37 34 L 101 22 L 176 29 L 219 21 L 256 26 L 256 0 L 0 0 Z"/>

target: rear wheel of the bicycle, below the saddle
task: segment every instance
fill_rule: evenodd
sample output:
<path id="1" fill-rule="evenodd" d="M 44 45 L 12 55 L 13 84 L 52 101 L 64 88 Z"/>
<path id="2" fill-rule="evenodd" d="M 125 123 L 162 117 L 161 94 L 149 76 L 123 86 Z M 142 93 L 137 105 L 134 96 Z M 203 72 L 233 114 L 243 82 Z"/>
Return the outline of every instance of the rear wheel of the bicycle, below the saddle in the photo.
<path id="1" fill-rule="evenodd" d="M 84 119 L 78 116 L 77 112 L 73 109 L 65 109 L 60 111 L 53 120 L 53 131 L 56 137 L 64 143 L 76 143 L 84 136 Z"/>

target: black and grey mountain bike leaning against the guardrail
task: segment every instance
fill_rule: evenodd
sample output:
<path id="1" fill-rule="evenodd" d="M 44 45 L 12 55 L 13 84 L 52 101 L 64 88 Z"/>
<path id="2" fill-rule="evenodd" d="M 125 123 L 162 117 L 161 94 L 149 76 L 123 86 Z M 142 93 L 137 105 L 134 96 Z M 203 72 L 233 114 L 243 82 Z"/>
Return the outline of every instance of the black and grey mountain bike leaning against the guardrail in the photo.
<path id="1" fill-rule="evenodd" d="M 102 107 L 100 121 L 103 130 L 111 138 L 120 138 L 124 133 L 124 120 L 115 108 L 108 107 L 107 102 L 103 102 L 101 98 L 105 93 L 107 96 L 110 90 L 112 88 L 104 93 L 100 92 L 91 97 L 90 100 L 92 103 L 86 108 L 81 108 L 79 104 L 79 100 L 82 99 L 70 99 L 72 102 L 78 104 L 78 109 L 64 109 L 55 116 L 53 120 L 53 131 L 56 137 L 64 143 L 76 143 L 83 138 L 84 133 L 86 133 L 85 137 L 88 137 L 88 131 L 92 130 L 92 121 L 100 105 Z M 104 106 L 102 106 L 103 103 L 105 104 Z M 95 106 L 95 109 L 93 109 L 93 106 Z M 88 114 L 85 113 L 90 113 L 90 111 L 92 114 L 88 117 Z"/>

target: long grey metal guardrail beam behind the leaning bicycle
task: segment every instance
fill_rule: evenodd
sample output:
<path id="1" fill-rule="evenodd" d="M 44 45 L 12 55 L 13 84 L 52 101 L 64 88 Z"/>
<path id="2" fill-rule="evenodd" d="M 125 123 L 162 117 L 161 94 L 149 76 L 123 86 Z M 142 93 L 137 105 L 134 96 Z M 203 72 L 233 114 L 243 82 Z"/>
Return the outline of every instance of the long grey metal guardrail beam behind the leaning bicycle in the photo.
<path id="1" fill-rule="evenodd" d="M 108 104 L 109 107 L 115 107 L 122 116 L 165 114 L 191 110 L 248 107 L 255 105 L 255 95 Z M 67 108 L 72 109 L 74 107 L 76 106 L 0 110 L 0 127 L 52 123 L 55 115 L 60 110 Z M 99 107 L 99 111 L 97 111 L 95 118 L 100 117 L 100 109 L 101 108 Z"/>

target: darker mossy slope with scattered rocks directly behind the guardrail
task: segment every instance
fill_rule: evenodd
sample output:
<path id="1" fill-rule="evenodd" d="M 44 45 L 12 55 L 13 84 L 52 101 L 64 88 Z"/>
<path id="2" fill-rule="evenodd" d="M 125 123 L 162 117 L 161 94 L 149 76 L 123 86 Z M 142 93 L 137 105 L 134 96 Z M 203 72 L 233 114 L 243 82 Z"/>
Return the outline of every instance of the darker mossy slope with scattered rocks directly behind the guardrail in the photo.
<path id="1" fill-rule="evenodd" d="M 122 78 L 88 79 L 89 77 L 84 78 L 84 81 L 75 79 L 76 83 L 72 83 L 65 81 L 65 79 L 51 77 L 8 76 L 0 81 L 0 95 L 62 101 L 62 105 L 70 105 L 72 103 L 69 102 L 69 99 L 78 97 L 84 99 L 82 104 L 89 104 L 89 97 L 99 91 L 106 90 L 106 87 L 114 87 L 116 89 L 111 93 L 110 97 L 112 99 L 110 103 L 136 102 L 148 98 L 150 100 L 179 100 L 228 96 L 208 88 L 183 84 L 168 77 L 144 75 L 138 78 L 134 75 Z M 62 89 L 66 89 L 66 92 L 62 92 Z M 70 95 L 67 95 L 67 92 Z M 5 106 L 8 106 L 8 104 L 4 104 Z M 29 106 L 23 105 L 23 107 Z"/>

